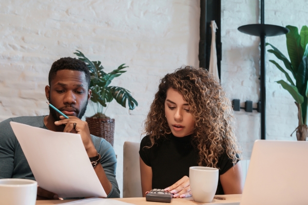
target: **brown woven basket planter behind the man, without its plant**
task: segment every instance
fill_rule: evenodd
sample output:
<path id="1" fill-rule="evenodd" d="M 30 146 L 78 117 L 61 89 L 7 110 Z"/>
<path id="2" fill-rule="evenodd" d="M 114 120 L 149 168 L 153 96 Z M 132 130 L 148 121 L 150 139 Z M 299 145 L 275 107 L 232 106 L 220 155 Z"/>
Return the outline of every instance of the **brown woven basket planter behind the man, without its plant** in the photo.
<path id="1" fill-rule="evenodd" d="M 114 119 L 86 117 L 90 134 L 102 137 L 113 147 Z"/>

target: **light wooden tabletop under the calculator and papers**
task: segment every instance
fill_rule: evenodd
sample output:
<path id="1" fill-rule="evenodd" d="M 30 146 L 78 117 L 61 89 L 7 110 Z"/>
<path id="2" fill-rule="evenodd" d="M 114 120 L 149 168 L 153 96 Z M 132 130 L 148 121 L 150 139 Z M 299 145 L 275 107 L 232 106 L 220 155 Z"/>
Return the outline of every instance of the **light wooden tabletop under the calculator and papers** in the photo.
<path id="1" fill-rule="evenodd" d="M 210 203 L 200 203 L 194 201 L 192 197 L 188 198 L 174 198 L 171 200 L 171 203 L 173 204 L 217 204 L 217 203 L 236 203 L 240 202 L 241 200 L 241 194 L 229 194 L 229 195 L 215 195 L 214 199 Z M 223 198 L 225 200 L 223 200 Z M 165 204 L 167 205 L 168 203 L 162 203 L 162 202 L 151 202 L 151 201 L 146 201 L 145 198 L 114 198 L 115 200 L 127 202 L 127 203 L 132 203 L 136 205 L 158 205 L 158 204 Z M 37 200 L 36 205 L 50 205 L 50 204 L 61 204 L 69 201 L 75 201 L 75 200 Z"/>

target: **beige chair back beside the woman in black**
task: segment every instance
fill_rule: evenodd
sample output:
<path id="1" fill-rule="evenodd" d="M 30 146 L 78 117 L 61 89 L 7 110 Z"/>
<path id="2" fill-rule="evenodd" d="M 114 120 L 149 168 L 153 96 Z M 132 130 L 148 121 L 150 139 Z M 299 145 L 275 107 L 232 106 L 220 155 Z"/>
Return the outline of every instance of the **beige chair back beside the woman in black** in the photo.
<path id="1" fill-rule="evenodd" d="M 123 146 L 123 198 L 142 197 L 140 163 L 140 143 L 125 141 Z"/>

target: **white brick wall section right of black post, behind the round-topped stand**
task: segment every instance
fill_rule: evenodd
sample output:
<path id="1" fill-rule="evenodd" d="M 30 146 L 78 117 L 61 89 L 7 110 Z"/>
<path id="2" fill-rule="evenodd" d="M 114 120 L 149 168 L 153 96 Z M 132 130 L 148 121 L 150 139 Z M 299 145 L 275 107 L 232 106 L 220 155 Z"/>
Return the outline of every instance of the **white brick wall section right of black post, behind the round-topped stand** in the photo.
<path id="1" fill-rule="evenodd" d="M 308 25 L 307 0 L 265 1 L 265 24 L 278 26 Z M 254 107 L 259 100 L 260 39 L 243 34 L 239 26 L 260 23 L 259 1 L 229 0 L 222 1 L 222 85 L 230 99 L 253 100 Z M 266 42 L 280 49 L 286 56 L 285 35 L 267 37 Z M 267 48 L 268 49 L 268 48 Z M 269 63 L 269 59 L 279 60 L 266 53 L 266 137 L 267 139 L 296 140 L 290 134 L 297 127 L 297 108 L 292 96 L 275 81 L 285 76 Z M 282 64 L 281 64 L 282 65 Z M 237 136 L 243 149 L 244 159 L 249 159 L 253 142 L 260 138 L 260 113 L 235 112 Z"/>

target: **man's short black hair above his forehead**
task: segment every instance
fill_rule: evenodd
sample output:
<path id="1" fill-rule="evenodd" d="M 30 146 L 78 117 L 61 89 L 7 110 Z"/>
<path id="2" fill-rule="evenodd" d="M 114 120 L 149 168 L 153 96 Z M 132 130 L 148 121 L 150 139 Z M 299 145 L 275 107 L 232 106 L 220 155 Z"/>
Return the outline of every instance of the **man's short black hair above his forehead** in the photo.
<path id="1" fill-rule="evenodd" d="M 74 70 L 74 71 L 84 72 L 89 88 L 91 80 L 90 72 L 87 65 L 83 61 L 71 57 L 63 57 L 60 58 L 59 60 L 54 61 L 48 75 L 49 86 L 51 85 L 51 80 L 54 79 L 56 72 L 60 70 Z"/>

